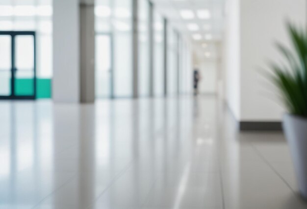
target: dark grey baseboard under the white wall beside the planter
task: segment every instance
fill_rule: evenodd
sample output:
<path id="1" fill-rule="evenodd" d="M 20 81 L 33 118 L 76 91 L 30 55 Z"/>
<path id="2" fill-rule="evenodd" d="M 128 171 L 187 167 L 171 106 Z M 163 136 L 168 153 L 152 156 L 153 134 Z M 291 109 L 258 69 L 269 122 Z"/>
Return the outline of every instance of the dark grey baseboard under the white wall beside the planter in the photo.
<path id="1" fill-rule="evenodd" d="M 240 131 L 281 131 L 282 123 L 280 121 L 240 121 Z"/>

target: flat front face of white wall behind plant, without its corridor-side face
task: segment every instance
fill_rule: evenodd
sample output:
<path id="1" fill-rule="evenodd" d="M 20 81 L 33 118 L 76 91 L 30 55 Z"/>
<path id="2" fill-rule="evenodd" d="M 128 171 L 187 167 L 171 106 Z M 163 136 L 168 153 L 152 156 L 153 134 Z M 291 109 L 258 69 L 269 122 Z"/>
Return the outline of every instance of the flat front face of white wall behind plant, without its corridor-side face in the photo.
<path id="1" fill-rule="evenodd" d="M 285 21 L 306 26 L 306 0 L 240 1 L 242 121 L 280 121 L 284 113 L 267 79 L 259 72 L 267 60 L 278 62 L 275 41 L 289 43 Z"/>

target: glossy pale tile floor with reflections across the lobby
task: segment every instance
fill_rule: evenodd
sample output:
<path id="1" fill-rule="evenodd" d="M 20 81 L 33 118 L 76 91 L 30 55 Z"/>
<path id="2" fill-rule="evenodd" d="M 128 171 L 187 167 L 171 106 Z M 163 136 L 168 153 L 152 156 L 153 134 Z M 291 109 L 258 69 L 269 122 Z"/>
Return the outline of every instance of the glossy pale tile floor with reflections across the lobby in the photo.
<path id="1" fill-rule="evenodd" d="M 0 209 L 305 208 L 282 134 L 214 97 L 0 102 Z"/>

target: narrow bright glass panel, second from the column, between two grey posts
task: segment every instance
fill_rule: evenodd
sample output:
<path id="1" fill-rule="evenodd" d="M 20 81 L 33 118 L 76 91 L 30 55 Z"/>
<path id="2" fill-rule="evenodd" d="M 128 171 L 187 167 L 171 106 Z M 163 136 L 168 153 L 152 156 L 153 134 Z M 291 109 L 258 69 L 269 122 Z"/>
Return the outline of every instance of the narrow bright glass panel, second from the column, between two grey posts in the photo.
<path id="1" fill-rule="evenodd" d="M 149 66 L 149 2 L 139 1 L 138 9 L 138 93 L 139 96 L 148 96 L 150 90 L 150 66 Z"/>

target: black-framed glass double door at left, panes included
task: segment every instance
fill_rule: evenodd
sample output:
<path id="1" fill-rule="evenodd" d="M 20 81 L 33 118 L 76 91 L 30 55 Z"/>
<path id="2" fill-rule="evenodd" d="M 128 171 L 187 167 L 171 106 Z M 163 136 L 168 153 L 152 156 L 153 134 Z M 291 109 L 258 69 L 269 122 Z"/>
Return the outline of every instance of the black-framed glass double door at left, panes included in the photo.
<path id="1" fill-rule="evenodd" d="M 0 31 L 0 99 L 35 99 L 35 32 Z"/>

